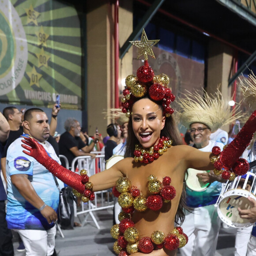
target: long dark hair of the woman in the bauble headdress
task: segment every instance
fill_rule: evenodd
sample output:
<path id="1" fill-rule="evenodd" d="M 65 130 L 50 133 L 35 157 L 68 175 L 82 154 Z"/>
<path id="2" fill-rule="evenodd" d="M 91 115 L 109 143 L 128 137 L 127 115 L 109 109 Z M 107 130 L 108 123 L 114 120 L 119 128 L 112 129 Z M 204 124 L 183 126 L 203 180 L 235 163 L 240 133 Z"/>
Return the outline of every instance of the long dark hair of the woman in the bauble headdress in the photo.
<path id="1" fill-rule="evenodd" d="M 143 97 L 143 98 L 148 98 L 149 97 Z M 140 98 L 141 99 L 141 98 Z M 139 99 L 138 99 L 139 100 Z M 138 101 L 137 100 L 137 101 Z M 159 102 L 153 101 L 150 99 L 152 102 L 155 102 L 161 109 L 163 113 L 163 107 L 162 104 L 159 104 Z M 181 134 L 178 130 L 177 124 L 172 116 L 166 117 L 165 121 L 165 126 L 162 129 L 160 136 L 166 136 L 172 139 L 173 146 L 177 145 L 182 145 L 182 139 L 181 139 Z M 124 157 L 134 157 L 134 150 L 135 150 L 135 145 L 139 144 L 139 140 L 136 138 L 133 129 L 132 129 L 132 117 L 130 117 L 129 122 L 128 122 L 128 137 L 127 137 L 127 143 L 126 143 L 126 150 L 125 150 L 125 155 Z M 185 214 L 184 214 L 184 209 L 187 209 L 186 207 L 186 190 L 185 190 L 185 181 L 183 182 L 183 189 L 181 193 L 181 199 L 179 202 L 179 206 L 177 209 L 177 213 L 175 216 L 175 222 L 178 223 L 179 221 L 184 222 L 185 219 Z"/>

